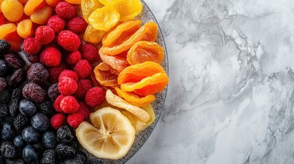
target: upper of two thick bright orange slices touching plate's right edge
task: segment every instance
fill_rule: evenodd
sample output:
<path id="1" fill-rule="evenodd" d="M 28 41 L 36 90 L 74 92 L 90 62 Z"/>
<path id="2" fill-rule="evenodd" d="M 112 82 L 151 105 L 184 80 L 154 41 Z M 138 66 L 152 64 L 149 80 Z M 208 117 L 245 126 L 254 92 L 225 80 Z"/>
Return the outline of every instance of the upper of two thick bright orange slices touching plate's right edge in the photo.
<path id="1" fill-rule="evenodd" d="M 165 73 L 162 66 L 152 61 L 145 61 L 143 64 L 136 64 L 125 68 L 125 70 L 119 74 L 117 81 L 119 84 L 128 82 L 134 83 L 159 72 Z"/>

